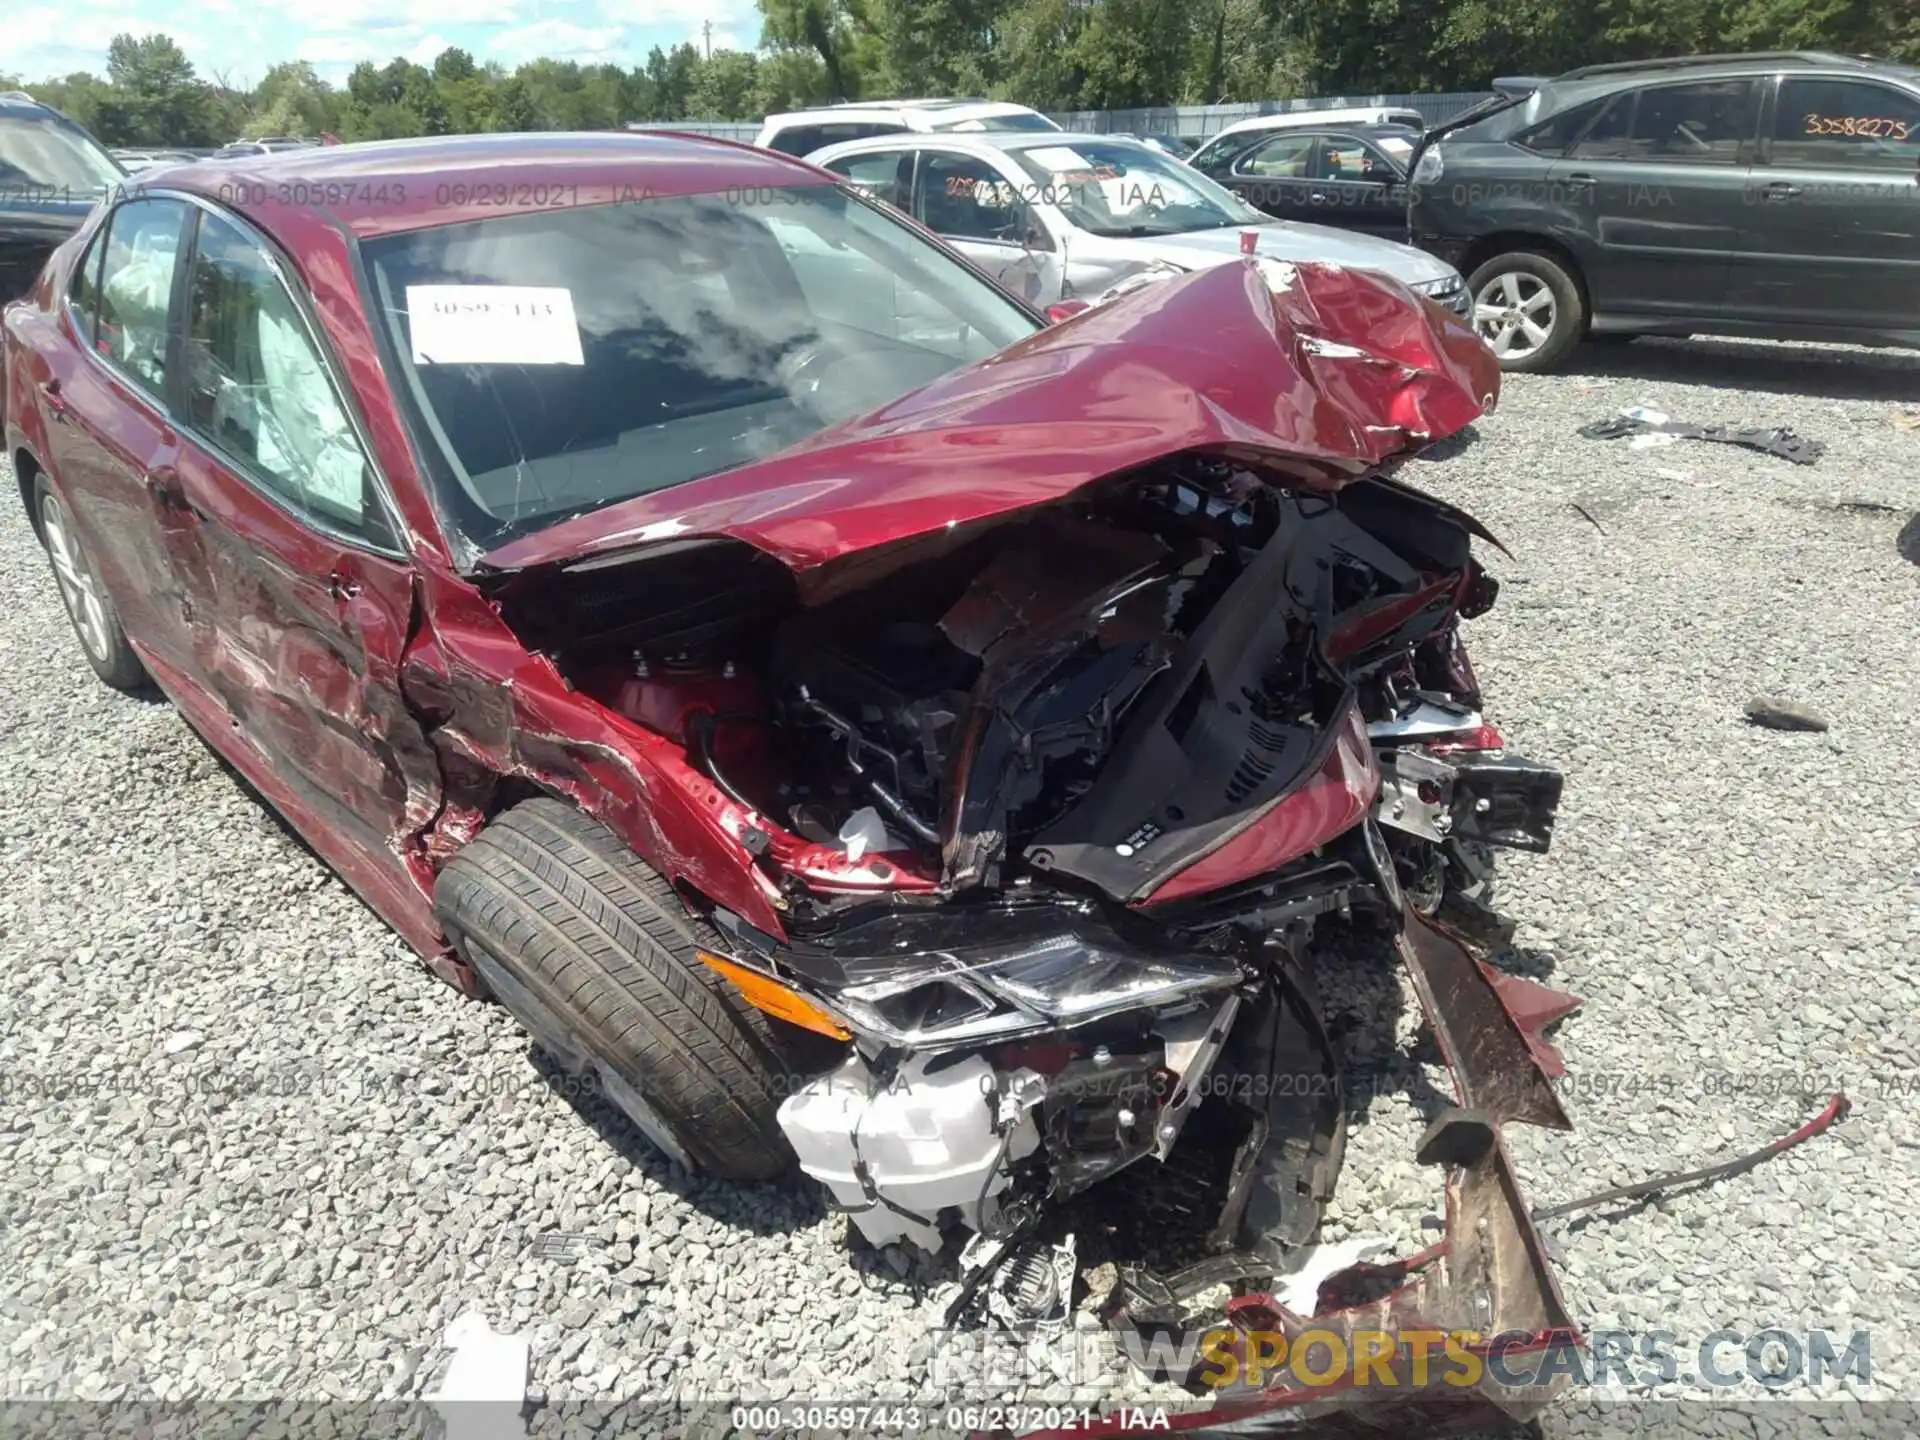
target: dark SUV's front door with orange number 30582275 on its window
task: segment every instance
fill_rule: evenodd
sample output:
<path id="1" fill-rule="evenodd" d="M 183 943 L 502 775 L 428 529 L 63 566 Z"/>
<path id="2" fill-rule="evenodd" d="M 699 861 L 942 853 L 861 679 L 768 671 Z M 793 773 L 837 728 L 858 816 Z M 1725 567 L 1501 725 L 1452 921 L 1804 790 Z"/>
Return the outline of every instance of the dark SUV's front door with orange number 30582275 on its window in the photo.
<path id="1" fill-rule="evenodd" d="M 1732 313 L 1920 328 L 1920 96 L 1786 75 L 1745 190 Z"/>

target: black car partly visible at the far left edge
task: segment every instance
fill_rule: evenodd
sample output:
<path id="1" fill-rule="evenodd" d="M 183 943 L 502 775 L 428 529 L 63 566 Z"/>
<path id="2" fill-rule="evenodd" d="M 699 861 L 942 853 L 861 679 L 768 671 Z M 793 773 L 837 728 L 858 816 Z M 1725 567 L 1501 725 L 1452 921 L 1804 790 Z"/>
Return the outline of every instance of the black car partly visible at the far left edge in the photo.
<path id="1" fill-rule="evenodd" d="M 121 179 L 119 161 L 58 109 L 19 90 L 0 94 L 0 303 L 27 294 Z"/>

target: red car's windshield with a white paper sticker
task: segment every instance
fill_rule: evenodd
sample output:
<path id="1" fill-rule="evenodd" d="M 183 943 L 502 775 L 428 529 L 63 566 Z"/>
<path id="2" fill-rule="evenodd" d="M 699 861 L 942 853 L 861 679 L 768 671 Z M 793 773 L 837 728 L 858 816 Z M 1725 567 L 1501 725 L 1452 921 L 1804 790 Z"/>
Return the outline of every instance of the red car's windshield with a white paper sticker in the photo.
<path id="1" fill-rule="evenodd" d="M 442 511 L 480 549 L 774 455 L 1041 323 L 839 186 L 365 242 Z"/>

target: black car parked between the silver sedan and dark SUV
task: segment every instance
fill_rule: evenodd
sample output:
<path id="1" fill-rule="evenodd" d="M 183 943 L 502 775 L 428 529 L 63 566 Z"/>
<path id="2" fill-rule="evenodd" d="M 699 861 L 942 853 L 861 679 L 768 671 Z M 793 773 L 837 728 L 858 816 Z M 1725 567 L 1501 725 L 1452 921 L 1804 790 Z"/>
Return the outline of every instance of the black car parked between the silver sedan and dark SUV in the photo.
<path id="1" fill-rule="evenodd" d="M 1421 132 L 1405 125 L 1288 125 L 1215 140 L 1192 163 L 1283 221 L 1407 238 L 1407 167 Z"/>

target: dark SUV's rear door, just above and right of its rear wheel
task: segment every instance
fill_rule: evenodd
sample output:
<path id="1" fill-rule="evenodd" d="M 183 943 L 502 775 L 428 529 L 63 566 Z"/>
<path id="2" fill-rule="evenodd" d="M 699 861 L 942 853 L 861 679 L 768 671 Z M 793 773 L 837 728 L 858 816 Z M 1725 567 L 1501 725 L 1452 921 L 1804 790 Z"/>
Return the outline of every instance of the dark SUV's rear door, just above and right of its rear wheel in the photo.
<path id="1" fill-rule="evenodd" d="M 1592 213 L 1596 309 L 1699 313 L 1724 301 L 1759 100 L 1751 79 L 1626 90 L 1551 167 L 1549 192 Z"/>

